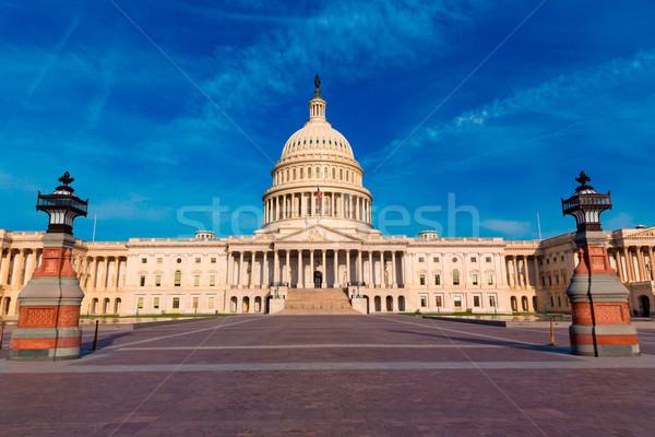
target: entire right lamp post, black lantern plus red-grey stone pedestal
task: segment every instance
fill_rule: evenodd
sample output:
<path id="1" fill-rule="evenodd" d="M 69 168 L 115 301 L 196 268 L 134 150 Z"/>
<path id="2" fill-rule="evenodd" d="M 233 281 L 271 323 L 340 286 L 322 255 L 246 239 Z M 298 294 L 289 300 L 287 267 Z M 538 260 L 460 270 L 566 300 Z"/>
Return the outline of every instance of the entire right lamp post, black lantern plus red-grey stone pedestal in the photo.
<path id="1" fill-rule="evenodd" d="M 577 224 L 574 240 L 579 264 L 567 288 L 573 322 L 569 328 L 571 353 L 636 356 L 639 342 L 630 324 L 628 290 L 609 265 L 606 236 L 600 227 L 600 213 L 611 209 L 609 191 L 594 191 L 584 172 L 575 180 L 580 182 L 575 193 L 562 199 L 562 213 L 573 215 Z"/>

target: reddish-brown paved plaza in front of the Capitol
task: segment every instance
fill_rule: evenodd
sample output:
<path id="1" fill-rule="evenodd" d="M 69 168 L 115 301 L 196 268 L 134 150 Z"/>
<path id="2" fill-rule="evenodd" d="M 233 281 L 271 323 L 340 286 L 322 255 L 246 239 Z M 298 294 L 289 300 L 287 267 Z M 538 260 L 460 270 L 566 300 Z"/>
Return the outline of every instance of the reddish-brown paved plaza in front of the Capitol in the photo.
<path id="1" fill-rule="evenodd" d="M 588 358 L 565 329 L 552 347 L 544 328 L 398 315 L 103 331 L 78 361 L 0 359 L 0 435 L 653 436 L 655 331 L 639 334 L 641 357 Z"/>

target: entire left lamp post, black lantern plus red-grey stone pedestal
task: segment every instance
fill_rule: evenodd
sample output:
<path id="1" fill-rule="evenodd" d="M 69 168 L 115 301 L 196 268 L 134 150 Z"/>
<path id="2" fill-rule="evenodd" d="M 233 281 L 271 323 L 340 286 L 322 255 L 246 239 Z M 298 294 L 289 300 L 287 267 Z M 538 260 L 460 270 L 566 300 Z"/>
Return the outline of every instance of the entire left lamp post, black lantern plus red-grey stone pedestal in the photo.
<path id="1" fill-rule="evenodd" d="M 41 263 L 19 295 L 19 326 L 9 359 L 52 361 L 80 357 L 80 305 L 84 293 L 71 265 L 73 220 L 86 216 L 88 200 L 74 194 L 67 172 L 51 194 L 38 192 L 36 210 L 49 215 Z"/>

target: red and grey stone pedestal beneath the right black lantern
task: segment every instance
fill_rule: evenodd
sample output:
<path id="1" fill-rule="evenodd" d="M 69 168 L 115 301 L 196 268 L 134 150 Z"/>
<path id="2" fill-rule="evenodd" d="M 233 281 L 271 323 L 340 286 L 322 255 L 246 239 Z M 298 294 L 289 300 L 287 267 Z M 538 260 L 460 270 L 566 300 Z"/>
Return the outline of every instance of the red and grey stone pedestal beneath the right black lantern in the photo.
<path id="1" fill-rule="evenodd" d="M 571 353 L 587 356 L 639 356 L 636 331 L 630 323 L 628 288 L 609 265 L 603 232 L 575 236 L 580 263 L 567 295 L 573 323 Z"/>

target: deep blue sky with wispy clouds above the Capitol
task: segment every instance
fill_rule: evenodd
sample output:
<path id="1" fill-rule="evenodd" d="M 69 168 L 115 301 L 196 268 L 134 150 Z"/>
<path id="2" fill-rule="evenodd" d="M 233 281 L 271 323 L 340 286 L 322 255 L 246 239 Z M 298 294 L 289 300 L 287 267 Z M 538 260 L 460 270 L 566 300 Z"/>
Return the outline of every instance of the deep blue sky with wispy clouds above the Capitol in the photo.
<path id="1" fill-rule="evenodd" d="M 606 229 L 655 225 L 655 4 L 540 3 L 3 1 L 0 228 L 69 170 L 80 238 L 250 234 L 317 72 L 388 233 L 570 232 L 581 169 Z"/>

